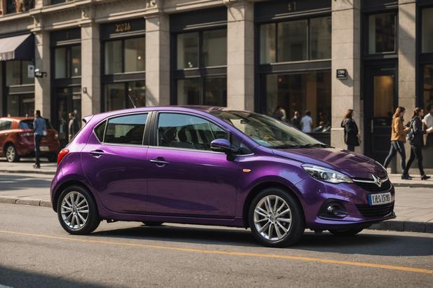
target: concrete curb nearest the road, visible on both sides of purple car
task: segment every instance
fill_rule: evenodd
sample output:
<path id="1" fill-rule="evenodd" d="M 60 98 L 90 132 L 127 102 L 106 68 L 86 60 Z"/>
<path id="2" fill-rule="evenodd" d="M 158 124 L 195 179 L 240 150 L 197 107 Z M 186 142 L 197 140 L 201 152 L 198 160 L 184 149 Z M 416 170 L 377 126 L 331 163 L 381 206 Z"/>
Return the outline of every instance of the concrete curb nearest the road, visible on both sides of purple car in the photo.
<path id="1" fill-rule="evenodd" d="M 51 202 L 32 198 L 0 196 L 0 203 L 51 207 Z M 433 233 L 433 222 L 390 220 L 369 227 L 371 230 Z"/>

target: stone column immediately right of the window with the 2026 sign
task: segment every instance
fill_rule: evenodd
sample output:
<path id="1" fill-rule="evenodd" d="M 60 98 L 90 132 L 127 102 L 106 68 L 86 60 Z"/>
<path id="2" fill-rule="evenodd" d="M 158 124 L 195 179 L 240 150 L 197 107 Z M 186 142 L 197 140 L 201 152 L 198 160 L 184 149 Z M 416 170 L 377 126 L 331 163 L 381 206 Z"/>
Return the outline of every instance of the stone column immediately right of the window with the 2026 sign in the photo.
<path id="1" fill-rule="evenodd" d="M 170 104 L 170 22 L 168 15 L 146 17 L 146 106 Z"/>

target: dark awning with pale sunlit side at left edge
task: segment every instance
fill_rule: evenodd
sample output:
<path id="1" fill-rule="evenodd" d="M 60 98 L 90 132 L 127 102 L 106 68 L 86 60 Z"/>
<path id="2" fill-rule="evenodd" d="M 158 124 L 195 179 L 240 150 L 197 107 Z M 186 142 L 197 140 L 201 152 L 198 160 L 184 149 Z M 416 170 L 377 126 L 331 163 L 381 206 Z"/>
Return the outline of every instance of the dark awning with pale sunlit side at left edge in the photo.
<path id="1" fill-rule="evenodd" d="M 0 61 L 32 59 L 34 59 L 33 34 L 0 39 Z"/>

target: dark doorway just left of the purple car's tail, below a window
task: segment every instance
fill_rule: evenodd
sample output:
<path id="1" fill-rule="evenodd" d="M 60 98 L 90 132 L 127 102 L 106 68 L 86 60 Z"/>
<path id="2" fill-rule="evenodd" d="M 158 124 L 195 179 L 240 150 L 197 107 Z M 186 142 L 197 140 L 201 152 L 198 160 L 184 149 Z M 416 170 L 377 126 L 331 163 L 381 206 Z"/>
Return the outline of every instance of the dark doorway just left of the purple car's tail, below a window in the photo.
<path id="1" fill-rule="evenodd" d="M 81 87 L 66 87 L 55 89 L 55 130 L 58 131 L 60 146 L 63 148 L 69 142 L 69 113 L 73 112 L 81 126 Z"/>

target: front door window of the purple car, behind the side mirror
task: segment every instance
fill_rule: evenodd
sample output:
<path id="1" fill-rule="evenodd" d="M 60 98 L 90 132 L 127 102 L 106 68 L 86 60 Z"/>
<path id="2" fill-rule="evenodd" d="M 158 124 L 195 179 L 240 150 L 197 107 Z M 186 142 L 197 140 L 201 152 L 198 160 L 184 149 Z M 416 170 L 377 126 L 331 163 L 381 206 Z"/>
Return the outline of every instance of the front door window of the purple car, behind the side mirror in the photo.
<path id="1" fill-rule="evenodd" d="M 227 132 L 204 118 L 161 113 L 158 119 L 158 146 L 211 150 L 214 139 L 227 139 Z"/>

